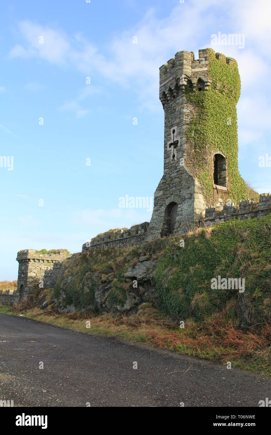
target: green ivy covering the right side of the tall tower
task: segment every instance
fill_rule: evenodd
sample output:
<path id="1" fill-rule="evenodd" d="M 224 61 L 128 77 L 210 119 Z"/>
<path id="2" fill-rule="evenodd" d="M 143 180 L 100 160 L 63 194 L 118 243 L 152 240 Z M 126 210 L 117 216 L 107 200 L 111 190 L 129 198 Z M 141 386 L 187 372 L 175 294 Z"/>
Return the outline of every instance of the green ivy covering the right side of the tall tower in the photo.
<path id="1" fill-rule="evenodd" d="M 199 91 L 188 81 L 185 87 L 187 101 L 194 105 L 186 131 L 186 166 L 197 177 L 207 205 L 218 197 L 239 202 L 246 198 L 258 199 L 238 171 L 238 131 L 236 104 L 240 97 L 241 80 L 234 59 L 208 51 L 208 90 Z M 222 154 L 227 161 L 228 192 L 214 189 L 214 154 Z"/>

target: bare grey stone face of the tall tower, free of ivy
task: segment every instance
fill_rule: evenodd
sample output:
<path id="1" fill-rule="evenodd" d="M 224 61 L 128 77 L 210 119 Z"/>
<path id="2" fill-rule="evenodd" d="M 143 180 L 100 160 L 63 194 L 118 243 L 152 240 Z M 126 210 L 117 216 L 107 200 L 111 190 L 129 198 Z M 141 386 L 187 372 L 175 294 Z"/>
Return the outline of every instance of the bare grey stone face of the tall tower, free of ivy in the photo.
<path id="1" fill-rule="evenodd" d="M 160 100 L 163 104 L 164 119 L 164 174 L 154 193 L 154 210 L 148 231 L 148 240 L 160 237 L 165 224 L 165 210 L 168 204 L 178 204 L 174 228 L 181 234 L 204 213 L 206 204 L 200 185 L 191 176 L 185 165 L 187 149 L 186 130 L 197 114 L 197 109 L 187 101 L 185 86 L 191 80 L 196 89 L 201 78 L 204 92 L 209 89 L 208 51 L 199 50 L 199 59 L 194 53 L 180 51 L 160 68 Z"/>

